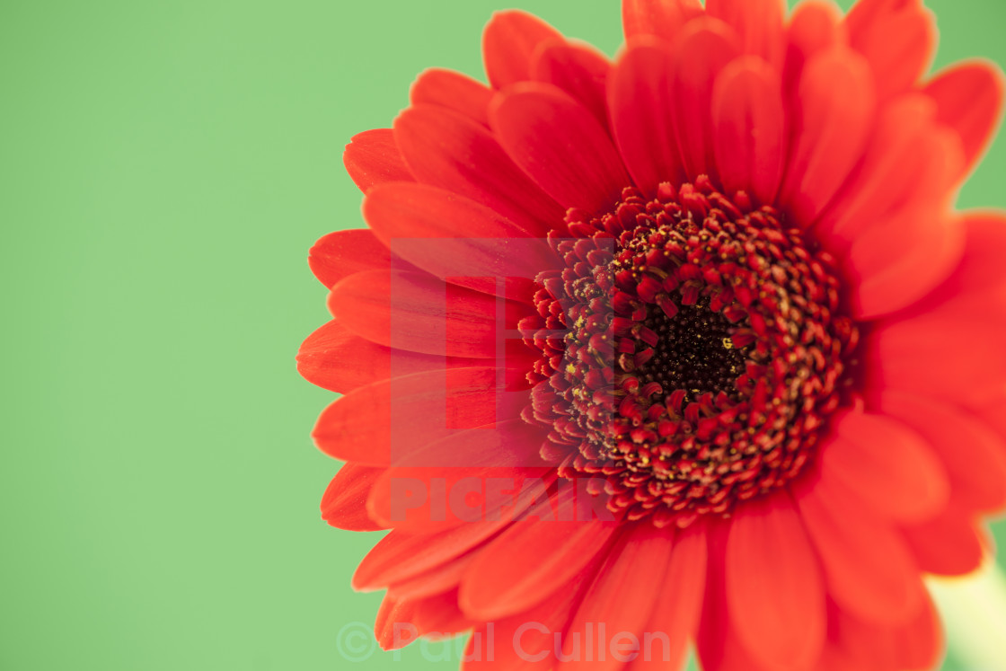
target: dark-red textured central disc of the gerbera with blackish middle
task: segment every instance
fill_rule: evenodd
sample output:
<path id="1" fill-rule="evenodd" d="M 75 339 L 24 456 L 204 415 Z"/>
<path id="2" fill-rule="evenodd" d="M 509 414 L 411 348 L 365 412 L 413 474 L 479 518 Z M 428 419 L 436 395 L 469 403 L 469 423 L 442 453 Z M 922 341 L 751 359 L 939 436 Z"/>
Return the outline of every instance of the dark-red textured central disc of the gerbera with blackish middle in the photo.
<path id="1" fill-rule="evenodd" d="M 687 526 L 785 485 L 840 402 L 857 331 L 830 257 L 705 178 L 570 210 L 526 340 L 542 456 L 627 519 Z M 561 329 L 561 330 L 560 330 Z M 561 335 L 556 335 L 556 333 Z"/>

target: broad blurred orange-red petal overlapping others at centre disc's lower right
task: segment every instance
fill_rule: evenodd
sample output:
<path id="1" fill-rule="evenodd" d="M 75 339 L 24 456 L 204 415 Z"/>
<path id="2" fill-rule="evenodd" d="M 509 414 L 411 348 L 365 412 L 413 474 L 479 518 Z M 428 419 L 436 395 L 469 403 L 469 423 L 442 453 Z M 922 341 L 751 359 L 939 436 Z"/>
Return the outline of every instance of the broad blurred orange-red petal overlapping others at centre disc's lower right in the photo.
<path id="1" fill-rule="evenodd" d="M 943 466 L 915 433 L 880 414 L 848 411 L 832 420 L 820 447 L 821 479 L 888 519 L 917 522 L 947 504 Z"/>

